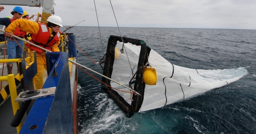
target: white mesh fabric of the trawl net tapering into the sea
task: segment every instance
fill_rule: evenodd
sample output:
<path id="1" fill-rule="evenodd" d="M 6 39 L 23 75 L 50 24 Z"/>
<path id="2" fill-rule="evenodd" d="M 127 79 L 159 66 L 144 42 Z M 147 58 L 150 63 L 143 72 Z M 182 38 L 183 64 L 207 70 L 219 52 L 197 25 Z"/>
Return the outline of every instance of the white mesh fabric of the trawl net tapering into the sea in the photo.
<path id="1" fill-rule="evenodd" d="M 122 45 L 123 43 L 117 42 L 118 50 L 122 49 Z M 129 81 L 132 79 L 132 70 L 134 73 L 137 70 L 140 46 L 130 43 L 124 43 L 124 46 L 124 53 L 121 54 L 119 51 L 119 57 L 114 60 L 112 79 L 129 86 Z M 234 82 L 247 74 L 247 70 L 242 67 L 224 70 L 184 68 L 171 64 L 154 50 L 151 50 L 148 60 L 152 68 L 156 69 L 158 81 L 156 85 L 145 86 L 144 100 L 139 111 L 160 108 L 184 98 L 199 95 Z M 111 82 L 111 86 L 129 91 L 114 82 Z M 132 101 L 130 100 L 130 93 L 117 92 L 126 102 L 130 103 Z"/>

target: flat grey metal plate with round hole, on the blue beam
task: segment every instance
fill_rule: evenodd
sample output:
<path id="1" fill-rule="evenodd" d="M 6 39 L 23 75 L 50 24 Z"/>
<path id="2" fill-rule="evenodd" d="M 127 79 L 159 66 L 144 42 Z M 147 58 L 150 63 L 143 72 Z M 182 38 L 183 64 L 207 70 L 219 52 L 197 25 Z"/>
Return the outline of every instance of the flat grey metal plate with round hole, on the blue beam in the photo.
<path id="1" fill-rule="evenodd" d="M 46 89 L 27 90 L 25 92 L 20 92 L 20 94 L 15 99 L 15 102 L 54 96 L 55 90 L 56 90 L 56 87 L 49 87 Z"/>

